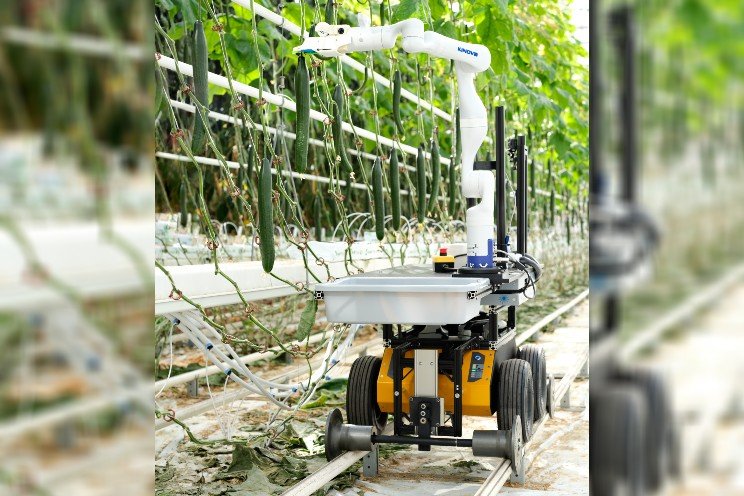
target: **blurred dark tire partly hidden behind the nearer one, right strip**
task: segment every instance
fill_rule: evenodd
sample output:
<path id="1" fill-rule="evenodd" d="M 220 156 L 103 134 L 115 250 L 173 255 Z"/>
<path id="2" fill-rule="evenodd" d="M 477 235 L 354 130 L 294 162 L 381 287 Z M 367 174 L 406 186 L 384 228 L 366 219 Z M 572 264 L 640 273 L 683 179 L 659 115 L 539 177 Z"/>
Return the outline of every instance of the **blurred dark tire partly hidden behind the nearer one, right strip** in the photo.
<path id="1" fill-rule="evenodd" d="M 661 375 L 642 369 L 621 371 L 619 379 L 638 389 L 644 399 L 646 416 L 645 483 L 646 490 L 656 492 L 662 488 L 672 470 L 674 454 L 672 444 L 672 413 L 669 406 L 666 384 Z"/>

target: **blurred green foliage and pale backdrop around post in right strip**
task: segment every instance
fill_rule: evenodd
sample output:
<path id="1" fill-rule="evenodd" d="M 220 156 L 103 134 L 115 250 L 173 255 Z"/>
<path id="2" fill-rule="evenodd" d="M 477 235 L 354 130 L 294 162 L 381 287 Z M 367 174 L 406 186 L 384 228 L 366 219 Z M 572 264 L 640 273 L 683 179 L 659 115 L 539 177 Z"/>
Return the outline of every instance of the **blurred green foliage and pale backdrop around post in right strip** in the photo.
<path id="1" fill-rule="evenodd" d="M 662 231 L 655 277 L 624 304 L 623 328 L 633 333 L 744 261 L 744 8 L 736 0 L 592 4 L 600 15 L 618 6 L 631 6 L 636 20 L 639 201 Z M 602 50 L 602 151 L 617 171 L 621 68 L 612 29 L 602 29 L 592 45 Z"/>

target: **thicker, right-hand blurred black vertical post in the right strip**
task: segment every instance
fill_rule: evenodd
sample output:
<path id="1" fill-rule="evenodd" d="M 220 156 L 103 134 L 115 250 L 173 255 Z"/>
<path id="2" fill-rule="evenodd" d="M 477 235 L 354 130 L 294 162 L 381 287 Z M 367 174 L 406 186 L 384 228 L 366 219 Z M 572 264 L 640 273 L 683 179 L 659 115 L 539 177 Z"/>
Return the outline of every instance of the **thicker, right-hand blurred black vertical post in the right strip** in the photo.
<path id="1" fill-rule="evenodd" d="M 630 7 L 620 7 L 612 12 L 611 19 L 615 31 L 615 47 L 623 71 L 620 88 L 623 180 L 621 193 L 623 200 L 628 203 L 635 203 L 638 140 L 636 134 L 636 65 L 633 11 Z"/>

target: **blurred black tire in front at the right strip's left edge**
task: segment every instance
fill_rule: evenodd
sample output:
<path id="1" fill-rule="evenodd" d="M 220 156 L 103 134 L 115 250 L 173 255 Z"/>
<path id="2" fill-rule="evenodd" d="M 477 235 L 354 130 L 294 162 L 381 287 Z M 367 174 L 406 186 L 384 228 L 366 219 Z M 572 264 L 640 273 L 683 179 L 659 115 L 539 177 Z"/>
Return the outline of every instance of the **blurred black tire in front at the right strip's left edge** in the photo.
<path id="1" fill-rule="evenodd" d="M 593 496 L 641 496 L 644 489 L 644 398 L 628 385 L 590 391 L 589 473 Z"/>

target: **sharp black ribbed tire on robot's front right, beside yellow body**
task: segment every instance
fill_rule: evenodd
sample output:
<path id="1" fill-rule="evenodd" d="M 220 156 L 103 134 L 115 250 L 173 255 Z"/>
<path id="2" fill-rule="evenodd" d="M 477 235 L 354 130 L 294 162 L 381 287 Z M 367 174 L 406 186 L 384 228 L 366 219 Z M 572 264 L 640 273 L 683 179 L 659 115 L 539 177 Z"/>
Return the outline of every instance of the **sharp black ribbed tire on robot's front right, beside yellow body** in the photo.
<path id="1" fill-rule="evenodd" d="M 522 441 L 527 443 L 532 437 L 534 404 L 530 364 L 519 358 L 502 363 L 499 366 L 499 429 L 511 429 L 514 417 L 519 415 L 522 420 Z"/>

